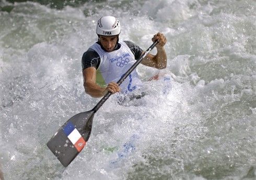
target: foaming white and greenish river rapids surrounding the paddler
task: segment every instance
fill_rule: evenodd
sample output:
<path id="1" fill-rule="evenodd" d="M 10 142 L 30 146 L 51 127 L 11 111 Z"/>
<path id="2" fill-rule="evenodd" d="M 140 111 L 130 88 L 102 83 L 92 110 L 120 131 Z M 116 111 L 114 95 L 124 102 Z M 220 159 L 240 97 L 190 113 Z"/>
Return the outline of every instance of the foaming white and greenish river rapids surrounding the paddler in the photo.
<path id="1" fill-rule="evenodd" d="M 4 178 L 255 179 L 255 4 L 0 1 Z M 105 15 L 119 18 L 122 40 L 144 50 L 155 33 L 166 35 L 168 66 L 160 72 L 171 76 L 171 91 L 148 82 L 159 71 L 140 65 L 147 95 L 122 106 L 111 96 L 86 147 L 64 168 L 46 143 L 100 100 L 84 92 L 81 58 Z"/>

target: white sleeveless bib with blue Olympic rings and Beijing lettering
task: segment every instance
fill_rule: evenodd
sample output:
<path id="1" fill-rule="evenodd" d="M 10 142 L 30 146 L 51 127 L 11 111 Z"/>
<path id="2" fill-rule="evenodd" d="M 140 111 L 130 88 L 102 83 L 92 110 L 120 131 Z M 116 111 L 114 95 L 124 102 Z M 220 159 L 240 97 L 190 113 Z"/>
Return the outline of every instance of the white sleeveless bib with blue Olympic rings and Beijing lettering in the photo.
<path id="1" fill-rule="evenodd" d="M 100 65 L 96 73 L 96 83 L 99 85 L 107 85 L 111 81 L 117 82 L 124 73 L 132 67 L 136 62 L 130 48 L 123 42 L 119 41 L 121 47 L 112 52 L 104 51 L 97 43 L 90 48 L 94 49 L 100 56 Z M 120 85 L 123 93 L 132 92 L 141 84 L 136 70 L 124 80 Z"/>

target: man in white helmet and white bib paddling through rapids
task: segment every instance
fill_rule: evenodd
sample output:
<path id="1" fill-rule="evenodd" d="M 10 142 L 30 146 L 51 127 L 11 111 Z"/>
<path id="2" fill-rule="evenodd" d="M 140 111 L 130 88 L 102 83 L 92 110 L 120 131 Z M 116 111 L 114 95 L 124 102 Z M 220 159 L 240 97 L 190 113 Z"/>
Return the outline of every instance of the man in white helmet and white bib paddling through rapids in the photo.
<path id="1" fill-rule="evenodd" d="M 141 84 L 135 70 L 120 87 L 116 83 L 144 53 L 139 46 L 130 41 L 119 41 L 120 32 L 120 22 L 117 18 L 104 16 L 98 20 L 96 28 L 98 42 L 93 44 L 82 58 L 85 92 L 92 97 L 102 97 L 107 92 L 131 93 Z M 157 33 L 152 41 L 158 41 L 157 54 L 148 54 L 141 63 L 164 69 L 167 65 L 164 49 L 166 37 Z"/>

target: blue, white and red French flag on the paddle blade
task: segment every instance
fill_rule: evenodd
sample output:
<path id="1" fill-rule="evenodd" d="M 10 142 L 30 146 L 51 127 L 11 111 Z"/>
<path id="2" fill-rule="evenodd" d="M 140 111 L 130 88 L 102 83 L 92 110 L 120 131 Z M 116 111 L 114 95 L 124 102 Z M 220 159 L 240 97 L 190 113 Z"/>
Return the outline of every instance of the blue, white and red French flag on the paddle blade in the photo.
<path id="1" fill-rule="evenodd" d="M 71 141 L 71 143 L 75 146 L 78 152 L 80 152 L 85 147 L 85 139 L 77 131 L 77 129 L 71 122 L 68 122 L 66 124 L 66 126 L 63 128 L 63 132 L 66 134 L 67 138 Z"/>

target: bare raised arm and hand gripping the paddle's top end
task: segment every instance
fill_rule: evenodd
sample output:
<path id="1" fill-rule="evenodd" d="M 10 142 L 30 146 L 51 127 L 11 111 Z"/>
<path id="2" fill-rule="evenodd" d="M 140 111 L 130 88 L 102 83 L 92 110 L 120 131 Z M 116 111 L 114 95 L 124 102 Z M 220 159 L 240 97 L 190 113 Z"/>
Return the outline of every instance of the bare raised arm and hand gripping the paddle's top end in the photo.
<path id="1" fill-rule="evenodd" d="M 156 55 L 148 54 L 142 60 L 142 64 L 145 66 L 149 66 L 157 69 L 165 69 L 167 65 L 167 56 L 164 48 L 167 42 L 166 37 L 164 34 L 157 33 L 152 38 L 152 41 L 153 42 L 158 41 L 156 45 L 157 54 Z"/>

